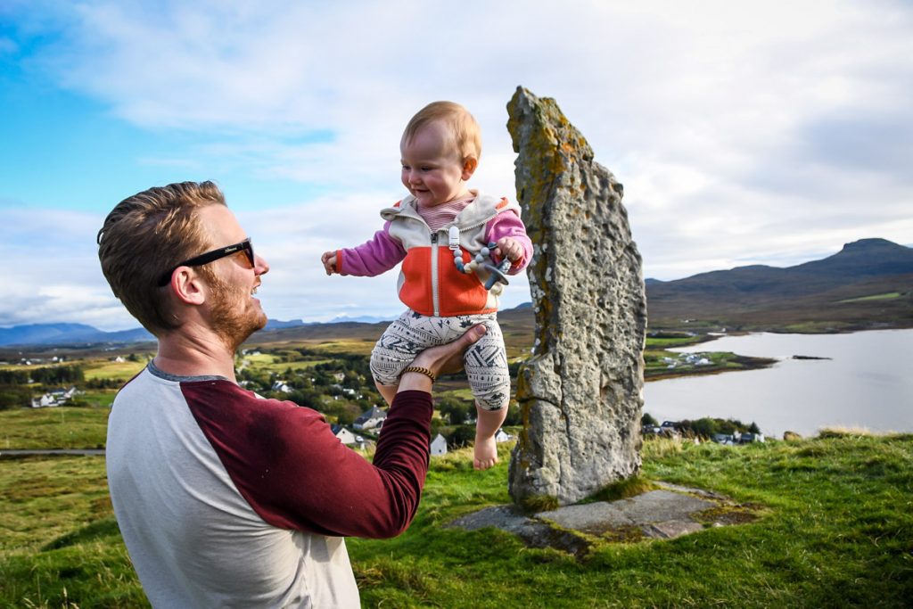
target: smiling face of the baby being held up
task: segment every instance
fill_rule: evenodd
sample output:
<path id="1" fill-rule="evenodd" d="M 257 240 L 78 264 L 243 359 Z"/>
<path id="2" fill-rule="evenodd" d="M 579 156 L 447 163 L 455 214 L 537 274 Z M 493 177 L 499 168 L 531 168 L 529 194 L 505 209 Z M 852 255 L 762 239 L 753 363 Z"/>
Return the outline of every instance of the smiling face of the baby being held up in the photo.
<path id="1" fill-rule="evenodd" d="M 454 139 L 440 122 L 425 125 L 408 142 L 400 142 L 403 185 L 419 205 L 433 207 L 467 194 L 467 172 Z"/>

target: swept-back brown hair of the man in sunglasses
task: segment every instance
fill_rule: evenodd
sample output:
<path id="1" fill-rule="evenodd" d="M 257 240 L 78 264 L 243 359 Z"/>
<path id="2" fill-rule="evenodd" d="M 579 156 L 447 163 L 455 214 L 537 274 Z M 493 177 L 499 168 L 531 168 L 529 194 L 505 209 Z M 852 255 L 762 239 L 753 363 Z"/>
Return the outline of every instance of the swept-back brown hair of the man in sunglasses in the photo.
<path id="1" fill-rule="evenodd" d="M 156 336 L 180 325 L 158 280 L 209 249 L 210 240 L 196 213 L 207 205 L 226 205 L 222 191 L 212 182 L 150 188 L 116 205 L 99 231 L 101 272 L 114 296 Z M 204 277 L 210 275 L 206 268 L 199 270 Z"/>

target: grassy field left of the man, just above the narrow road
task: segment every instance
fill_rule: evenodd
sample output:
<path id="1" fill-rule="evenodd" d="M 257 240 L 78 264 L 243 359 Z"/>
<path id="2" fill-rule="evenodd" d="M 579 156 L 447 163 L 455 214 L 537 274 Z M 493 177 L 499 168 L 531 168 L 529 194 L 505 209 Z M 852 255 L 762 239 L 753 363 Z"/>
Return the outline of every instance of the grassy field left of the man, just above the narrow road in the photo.
<path id="1" fill-rule="evenodd" d="M 111 398 L 113 399 L 113 398 Z M 0 451 L 104 448 L 110 408 L 14 408 L 0 411 Z"/>

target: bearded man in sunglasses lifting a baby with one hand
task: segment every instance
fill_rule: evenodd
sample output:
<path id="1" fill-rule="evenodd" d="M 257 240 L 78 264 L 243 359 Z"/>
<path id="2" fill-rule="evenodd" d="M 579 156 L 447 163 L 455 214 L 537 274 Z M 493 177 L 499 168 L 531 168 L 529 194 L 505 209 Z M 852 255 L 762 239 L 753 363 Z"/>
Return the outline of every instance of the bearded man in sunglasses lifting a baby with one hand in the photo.
<path id="1" fill-rule="evenodd" d="M 111 501 L 143 589 L 161 607 L 356 607 L 344 536 L 399 534 L 428 465 L 431 385 L 484 334 L 420 353 L 373 463 L 322 415 L 236 384 L 236 348 L 267 321 L 269 266 L 215 184 L 121 201 L 99 231 L 114 294 L 159 342 L 111 409 Z"/>

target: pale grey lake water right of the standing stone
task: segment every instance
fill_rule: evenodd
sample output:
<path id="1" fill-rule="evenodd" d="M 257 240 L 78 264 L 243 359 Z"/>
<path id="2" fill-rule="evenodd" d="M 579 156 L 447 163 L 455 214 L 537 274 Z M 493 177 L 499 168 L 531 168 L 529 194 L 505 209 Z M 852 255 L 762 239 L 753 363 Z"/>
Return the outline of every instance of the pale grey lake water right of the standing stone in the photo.
<path id="1" fill-rule="evenodd" d="M 776 437 L 786 430 L 814 436 L 834 426 L 913 432 L 913 330 L 726 336 L 674 351 L 780 361 L 763 370 L 645 383 L 644 410 L 660 422 L 734 418 Z"/>

